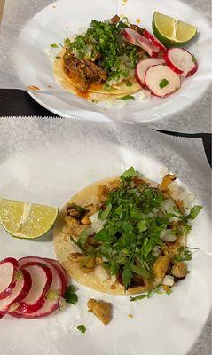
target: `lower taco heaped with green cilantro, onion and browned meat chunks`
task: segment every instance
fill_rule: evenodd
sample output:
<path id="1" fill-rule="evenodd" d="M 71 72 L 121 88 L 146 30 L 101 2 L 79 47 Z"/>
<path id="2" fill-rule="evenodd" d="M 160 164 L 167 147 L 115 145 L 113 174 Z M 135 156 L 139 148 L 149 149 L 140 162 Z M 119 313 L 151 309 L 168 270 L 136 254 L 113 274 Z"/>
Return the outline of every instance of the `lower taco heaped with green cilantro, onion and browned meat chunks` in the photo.
<path id="1" fill-rule="evenodd" d="M 55 252 L 67 273 L 114 295 L 185 278 L 188 222 L 200 208 L 185 214 L 175 179 L 166 175 L 157 184 L 131 167 L 75 194 L 54 229 Z"/>

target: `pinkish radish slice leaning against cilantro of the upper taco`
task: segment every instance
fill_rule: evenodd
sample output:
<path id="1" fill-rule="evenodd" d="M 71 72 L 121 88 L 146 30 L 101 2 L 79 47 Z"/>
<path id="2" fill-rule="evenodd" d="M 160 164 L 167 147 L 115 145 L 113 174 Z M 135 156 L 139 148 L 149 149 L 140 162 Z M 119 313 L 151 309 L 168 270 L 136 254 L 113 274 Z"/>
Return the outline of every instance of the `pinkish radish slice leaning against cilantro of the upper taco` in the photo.
<path id="1" fill-rule="evenodd" d="M 150 57 L 157 57 L 159 53 L 159 48 L 156 47 L 152 42 L 150 42 L 148 39 L 146 39 L 144 36 L 140 35 L 135 31 L 134 29 L 131 28 L 124 28 L 123 30 L 123 36 L 131 43 L 134 45 L 137 45 L 138 47 L 143 48 Z"/>

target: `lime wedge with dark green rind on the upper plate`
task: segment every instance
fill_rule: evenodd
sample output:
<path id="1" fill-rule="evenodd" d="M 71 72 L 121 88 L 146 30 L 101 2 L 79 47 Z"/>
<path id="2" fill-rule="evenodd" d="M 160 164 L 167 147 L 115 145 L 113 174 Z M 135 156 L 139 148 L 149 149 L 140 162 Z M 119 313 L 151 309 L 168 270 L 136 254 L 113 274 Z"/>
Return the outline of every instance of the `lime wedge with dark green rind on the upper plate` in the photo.
<path id="1" fill-rule="evenodd" d="M 153 14 L 153 34 L 166 47 L 177 47 L 192 40 L 197 28 L 160 12 Z"/>

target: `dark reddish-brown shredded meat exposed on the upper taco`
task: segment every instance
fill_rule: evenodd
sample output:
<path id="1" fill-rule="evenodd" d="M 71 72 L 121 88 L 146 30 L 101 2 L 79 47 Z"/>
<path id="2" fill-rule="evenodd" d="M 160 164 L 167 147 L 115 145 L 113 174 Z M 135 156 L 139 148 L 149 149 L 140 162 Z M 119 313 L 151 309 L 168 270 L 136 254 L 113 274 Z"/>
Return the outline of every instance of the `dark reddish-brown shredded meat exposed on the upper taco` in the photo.
<path id="1" fill-rule="evenodd" d="M 66 51 L 63 61 L 66 74 L 73 79 L 75 86 L 80 91 L 87 91 L 91 83 L 106 82 L 105 70 L 91 60 L 79 60 L 75 54 Z"/>

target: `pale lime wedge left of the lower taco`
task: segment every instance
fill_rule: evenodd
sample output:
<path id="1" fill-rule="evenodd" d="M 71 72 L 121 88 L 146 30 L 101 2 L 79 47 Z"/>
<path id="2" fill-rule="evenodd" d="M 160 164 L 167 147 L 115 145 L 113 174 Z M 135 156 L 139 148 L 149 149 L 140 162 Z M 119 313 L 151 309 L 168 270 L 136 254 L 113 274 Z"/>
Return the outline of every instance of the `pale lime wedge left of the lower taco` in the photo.
<path id="1" fill-rule="evenodd" d="M 55 207 L 0 199 L 0 223 L 13 237 L 40 237 L 51 229 L 58 213 Z"/>

